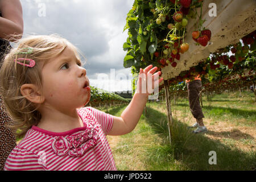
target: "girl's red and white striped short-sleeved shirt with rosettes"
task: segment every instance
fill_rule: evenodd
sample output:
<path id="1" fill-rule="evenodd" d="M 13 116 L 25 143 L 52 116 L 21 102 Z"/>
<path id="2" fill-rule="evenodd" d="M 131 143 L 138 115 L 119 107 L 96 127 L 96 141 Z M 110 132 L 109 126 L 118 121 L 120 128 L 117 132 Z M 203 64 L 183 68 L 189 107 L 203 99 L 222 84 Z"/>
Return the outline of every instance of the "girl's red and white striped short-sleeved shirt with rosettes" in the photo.
<path id="1" fill-rule="evenodd" d="M 32 126 L 11 151 L 5 170 L 117 170 L 106 139 L 113 115 L 93 107 L 77 113 L 84 127 L 54 133 Z"/>

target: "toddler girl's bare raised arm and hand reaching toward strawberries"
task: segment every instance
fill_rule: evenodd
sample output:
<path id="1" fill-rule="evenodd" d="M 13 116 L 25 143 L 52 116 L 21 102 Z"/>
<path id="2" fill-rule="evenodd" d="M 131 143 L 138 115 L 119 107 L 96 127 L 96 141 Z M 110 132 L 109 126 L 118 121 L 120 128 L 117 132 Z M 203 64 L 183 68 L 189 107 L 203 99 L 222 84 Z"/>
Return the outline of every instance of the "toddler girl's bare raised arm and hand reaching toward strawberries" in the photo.
<path id="1" fill-rule="evenodd" d="M 161 72 L 155 73 L 157 67 L 152 68 L 152 65 L 149 65 L 147 68 L 141 69 L 139 72 L 139 80 L 137 82 L 137 91 L 135 92 L 133 99 L 126 109 L 121 114 L 121 117 L 114 117 L 112 130 L 108 135 L 124 135 L 133 131 L 137 125 L 139 118 L 141 118 L 144 107 L 146 106 L 148 100 L 148 90 L 147 88 L 142 88 L 147 84 L 147 80 L 151 79 L 150 82 L 154 89 L 154 82 L 163 81 L 163 78 L 158 79 L 158 76 Z M 154 74 L 155 73 L 155 74 Z M 154 74 L 154 75 L 153 75 Z M 140 78 L 142 77 L 142 79 Z M 147 86 L 146 86 L 147 87 Z M 146 92 L 143 93 L 143 90 Z"/>

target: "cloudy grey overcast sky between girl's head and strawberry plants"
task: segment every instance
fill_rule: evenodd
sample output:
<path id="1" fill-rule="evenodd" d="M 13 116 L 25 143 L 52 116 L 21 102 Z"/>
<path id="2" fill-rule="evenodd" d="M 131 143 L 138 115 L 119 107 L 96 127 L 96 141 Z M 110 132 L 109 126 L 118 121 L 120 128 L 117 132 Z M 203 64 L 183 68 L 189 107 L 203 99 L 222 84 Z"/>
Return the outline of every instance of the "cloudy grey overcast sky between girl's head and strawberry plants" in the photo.
<path id="1" fill-rule="evenodd" d="M 108 91 L 130 90 L 130 69 L 123 68 L 123 32 L 134 0 L 20 0 L 24 35 L 59 34 L 86 57 L 90 85 Z M 110 78 L 114 80 L 104 80 Z M 99 75 L 100 74 L 100 75 Z M 100 79 L 101 78 L 101 79 Z M 122 81 L 120 81 L 122 78 Z"/>

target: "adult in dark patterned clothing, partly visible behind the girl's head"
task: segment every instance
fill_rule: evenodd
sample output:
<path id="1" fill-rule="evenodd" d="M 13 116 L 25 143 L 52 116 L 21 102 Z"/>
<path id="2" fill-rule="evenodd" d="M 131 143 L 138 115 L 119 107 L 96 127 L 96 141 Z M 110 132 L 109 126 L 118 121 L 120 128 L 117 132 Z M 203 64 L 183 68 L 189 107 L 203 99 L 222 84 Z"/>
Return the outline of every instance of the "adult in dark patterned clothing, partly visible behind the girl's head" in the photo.
<path id="1" fill-rule="evenodd" d="M 23 34 L 22 5 L 19 0 L 0 0 L 0 69 L 3 57 L 9 52 L 10 43 Z M 0 78 L 1 79 L 1 78 Z M 2 80 L 0 80 L 1 82 Z M 16 146 L 13 132 L 6 127 L 12 119 L 7 114 L 0 95 L 0 170 L 11 150 Z"/>

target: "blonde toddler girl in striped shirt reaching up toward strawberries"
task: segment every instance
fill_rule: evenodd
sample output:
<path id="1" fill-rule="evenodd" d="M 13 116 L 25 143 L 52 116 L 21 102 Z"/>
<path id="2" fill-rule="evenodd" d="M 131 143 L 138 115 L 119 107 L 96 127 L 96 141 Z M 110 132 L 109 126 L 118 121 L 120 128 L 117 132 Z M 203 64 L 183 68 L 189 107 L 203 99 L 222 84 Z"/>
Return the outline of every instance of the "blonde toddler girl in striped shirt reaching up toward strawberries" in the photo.
<path id="1" fill-rule="evenodd" d="M 83 107 L 90 100 L 89 80 L 68 40 L 56 35 L 19 40 L 3 61 L 0 91 L 14 119 L 10 127 L 24 138 L 5 170 L 116 170 L 106 135 L 134 129 L 149 95 L 142 93 L 143 81 L 163 80 L 156 69 L 141 69 L 133 100 L 115 117 Z"/>

